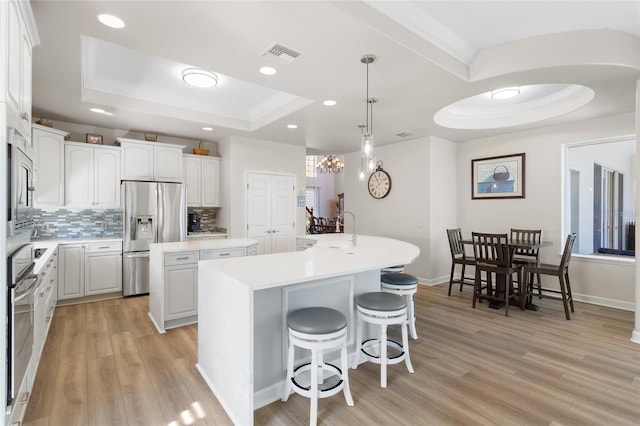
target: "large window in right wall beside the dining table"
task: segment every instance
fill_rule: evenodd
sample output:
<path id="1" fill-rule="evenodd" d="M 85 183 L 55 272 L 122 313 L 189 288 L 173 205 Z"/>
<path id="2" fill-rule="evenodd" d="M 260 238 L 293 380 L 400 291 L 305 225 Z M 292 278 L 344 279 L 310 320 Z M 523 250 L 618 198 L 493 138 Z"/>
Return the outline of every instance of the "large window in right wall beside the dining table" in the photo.
<path id="1" fill-rule="evenodd" d="M 574 253 L 635 255 L 635 157 L 632 139 L 567 148 L 565 229 Z"/>

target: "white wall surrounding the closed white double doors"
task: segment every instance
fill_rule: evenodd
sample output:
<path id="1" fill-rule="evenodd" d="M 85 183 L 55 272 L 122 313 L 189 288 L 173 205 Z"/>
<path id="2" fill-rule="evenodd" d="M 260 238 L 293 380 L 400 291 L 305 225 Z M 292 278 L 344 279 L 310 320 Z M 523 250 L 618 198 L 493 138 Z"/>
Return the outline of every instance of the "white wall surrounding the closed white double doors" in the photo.
<path id="1" fill-rule="evenodd" d="M 229 238 L 245 238 L 247 172 L 295 176 L 296 194 L 305 188 L 305 147 L 230 136 L 218 143 L 220 151 L 221 207 L 218 226 Z M 296 207 L 296 235 L 305 233 L 304 207 Z"/>

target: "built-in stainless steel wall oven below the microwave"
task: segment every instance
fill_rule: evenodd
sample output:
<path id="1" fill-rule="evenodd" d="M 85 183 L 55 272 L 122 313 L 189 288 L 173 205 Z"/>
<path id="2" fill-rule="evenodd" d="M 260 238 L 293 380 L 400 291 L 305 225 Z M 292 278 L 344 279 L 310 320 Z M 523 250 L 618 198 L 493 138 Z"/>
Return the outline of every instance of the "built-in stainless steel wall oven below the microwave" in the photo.
<path id="1" fill-rule="evenodd" d="M 7 407 L 12 407 L 33 351 L 34 293 L 40 278 L 33 273 L 34 247 L 25 244 L 7 258 Z"/>

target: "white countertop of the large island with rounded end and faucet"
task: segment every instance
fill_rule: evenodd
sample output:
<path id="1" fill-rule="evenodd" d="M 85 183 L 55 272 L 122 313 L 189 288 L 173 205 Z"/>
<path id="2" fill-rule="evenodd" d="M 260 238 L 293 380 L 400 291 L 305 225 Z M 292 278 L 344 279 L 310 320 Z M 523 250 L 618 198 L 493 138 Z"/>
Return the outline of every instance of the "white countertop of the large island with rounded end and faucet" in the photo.
<path id="1" fill-rule="evenodd" d="M 420 254 L 417 246 L 391 238 L 358 235 L 355 247 L 351 234 L 304 238 L 318 243 L 304 251 L 200 261 L 199 268 L 211 268 L 260 290 L 408 264 Z"/>

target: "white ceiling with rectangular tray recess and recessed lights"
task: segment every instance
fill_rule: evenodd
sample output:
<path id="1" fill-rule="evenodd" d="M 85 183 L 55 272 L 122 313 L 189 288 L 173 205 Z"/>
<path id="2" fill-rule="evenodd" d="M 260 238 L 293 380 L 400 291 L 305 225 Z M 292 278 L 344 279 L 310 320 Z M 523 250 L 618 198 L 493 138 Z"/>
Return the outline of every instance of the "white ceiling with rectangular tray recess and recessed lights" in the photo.
<path id="1" fill-rule="evenodd" d="M 461 141 L 630 112 L 640 79 L 637 1 L 51 0 L 32 8 L 41 39 L 34 117 L 190 139 L 237 134 L 356 151 L 364 54 L 377 56 L 369 66 L 377 144 L 406 140 L 399 132 Z M 126 27 L 101 25 L 99 13 Z M 290 63 L 264 56 L 274 42 L 301 56 Z M 278 74 L 260 74 L 263 65 Z M 188 87 L 183 67 L 213 71 L 220 84 Z M 433 121 L 461 99 L 543 83 L 580 84 L 595 96 L 574 112 L 502 129 Z M 326 99 L 337 105 L 323 106 Z"/>

